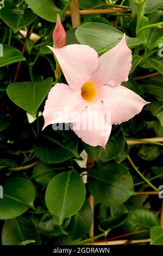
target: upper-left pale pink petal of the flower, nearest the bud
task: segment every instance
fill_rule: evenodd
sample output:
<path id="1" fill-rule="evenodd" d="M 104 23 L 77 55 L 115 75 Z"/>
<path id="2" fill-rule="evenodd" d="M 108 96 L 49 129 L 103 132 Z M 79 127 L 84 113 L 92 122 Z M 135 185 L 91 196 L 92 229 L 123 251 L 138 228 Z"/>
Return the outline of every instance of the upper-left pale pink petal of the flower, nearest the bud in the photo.
<path id="1" fill-rule="evenodd" d="M 67 45 L 62 48 L 48 46 L 58 59 L 67 83 L 80 90 L 98 68 L 98 54 L 88 45 Z"/>

